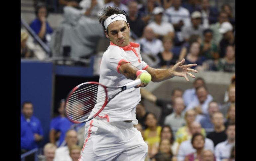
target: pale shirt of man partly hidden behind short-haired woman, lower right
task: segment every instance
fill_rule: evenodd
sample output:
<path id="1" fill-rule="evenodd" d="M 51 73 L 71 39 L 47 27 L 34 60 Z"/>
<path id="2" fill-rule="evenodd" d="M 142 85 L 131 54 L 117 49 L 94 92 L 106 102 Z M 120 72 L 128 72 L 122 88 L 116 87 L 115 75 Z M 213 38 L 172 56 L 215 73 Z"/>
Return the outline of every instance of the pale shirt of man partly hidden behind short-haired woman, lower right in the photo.
<path id="1" fill-rule="evenodd" d="M 209 149 L 212 152 L 214 152 L 214 143 L 211 139 L 205 138 L 204 149 Z M 179 147 L 179 151 L 177 154 L 178 161 L 184 161 L 186 155 L 194 152 L 196 152 L 196 150 L 193 148 L 191 144 L 191 139 L 183 141 Z"/>

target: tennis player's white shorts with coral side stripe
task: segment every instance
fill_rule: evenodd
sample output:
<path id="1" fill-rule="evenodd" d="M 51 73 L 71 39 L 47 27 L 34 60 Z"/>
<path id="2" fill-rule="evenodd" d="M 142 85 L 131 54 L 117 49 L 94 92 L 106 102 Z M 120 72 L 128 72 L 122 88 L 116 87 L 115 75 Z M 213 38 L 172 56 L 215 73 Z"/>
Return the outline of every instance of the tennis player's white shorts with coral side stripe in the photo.
<path id="1" fill-rule="evenodd" d="M 132 122 L 92 119 L 85 124 L 79 161 L 144 161 L 148 145 Z"/>

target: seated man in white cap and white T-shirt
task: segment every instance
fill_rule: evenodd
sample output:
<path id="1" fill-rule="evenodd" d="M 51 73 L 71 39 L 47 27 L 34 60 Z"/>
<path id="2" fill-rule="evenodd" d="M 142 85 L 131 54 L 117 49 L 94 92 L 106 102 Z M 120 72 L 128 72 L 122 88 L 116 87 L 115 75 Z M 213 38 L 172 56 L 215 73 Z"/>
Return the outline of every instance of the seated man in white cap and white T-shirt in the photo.
<path id="1" fill-rule="evenodd" d="M 162 7 L 155 7 L 152 13 L 154 14 L 154 21 L 148 26 L 153 29 L 155 37 L 162 39 L 164 36 L 170 36 L 173 39 L 175 34 L 173 25 L 162 20 L 165 10 Z"/>

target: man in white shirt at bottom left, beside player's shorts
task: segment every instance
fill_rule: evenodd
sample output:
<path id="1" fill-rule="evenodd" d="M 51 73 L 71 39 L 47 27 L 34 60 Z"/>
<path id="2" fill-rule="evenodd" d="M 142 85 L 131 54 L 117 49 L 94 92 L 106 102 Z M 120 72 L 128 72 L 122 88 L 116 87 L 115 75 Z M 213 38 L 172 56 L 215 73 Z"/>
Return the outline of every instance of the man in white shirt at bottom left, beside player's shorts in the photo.
<path id="1" fill-rule="evenodd" d="M 77 133 L 75 130 L 70 129 L 66 132 L 65 141 L 67 146 L 57 148 L 54 161 L 72 161 L 69 155 L 69 149 L 77 144 Z"/>

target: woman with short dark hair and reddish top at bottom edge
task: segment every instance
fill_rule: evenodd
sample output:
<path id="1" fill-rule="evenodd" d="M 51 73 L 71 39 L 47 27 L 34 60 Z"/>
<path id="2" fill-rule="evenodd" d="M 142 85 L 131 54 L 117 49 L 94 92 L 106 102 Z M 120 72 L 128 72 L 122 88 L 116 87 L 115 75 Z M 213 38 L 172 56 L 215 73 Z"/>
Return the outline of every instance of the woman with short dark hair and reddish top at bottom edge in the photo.
<path id="1" fill-rule="evenodd" d="M 201 133 L 193 134 L 191 143 L 196 152 L 187 155 L 184 161 L 202 161 L 202 151 L 205 144 L 204 136 Z"/>

